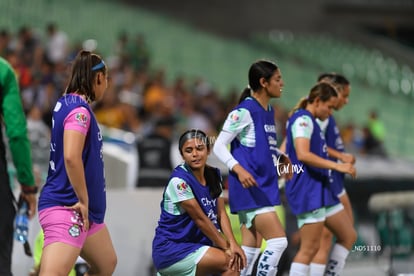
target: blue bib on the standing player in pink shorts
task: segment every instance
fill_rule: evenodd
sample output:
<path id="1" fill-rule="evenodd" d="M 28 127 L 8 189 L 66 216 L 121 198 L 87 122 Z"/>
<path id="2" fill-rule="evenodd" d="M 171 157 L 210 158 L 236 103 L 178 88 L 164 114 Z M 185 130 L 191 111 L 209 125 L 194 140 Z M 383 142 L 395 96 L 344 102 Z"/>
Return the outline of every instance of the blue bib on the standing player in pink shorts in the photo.
<path id="1" fill-rule="evenodd" d="M 82 152 L 89 197 L 89 220 L 102 223 L 106 210 L 102 135 L 89 105 L 80 96 L 74 94 L 62 96 L 53 110 L 49 170 L 46 183 L 40 193 L 38 208 L 41 211 L 48 207 L 71 206 L 78 202 L 66 173 L 63 158 L 64 120 L 77 107 L 86 108 L 91 120 Z M 82 119 L 79 118 L 79 123 L 82 123 Z"/>

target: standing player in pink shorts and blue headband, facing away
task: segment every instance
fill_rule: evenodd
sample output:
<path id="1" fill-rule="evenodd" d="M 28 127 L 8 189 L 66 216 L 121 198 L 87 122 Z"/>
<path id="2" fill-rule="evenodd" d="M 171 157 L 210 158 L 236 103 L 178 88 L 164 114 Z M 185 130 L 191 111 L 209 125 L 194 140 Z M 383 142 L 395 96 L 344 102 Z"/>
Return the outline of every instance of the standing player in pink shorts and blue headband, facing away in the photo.
<path id="1" fill-rule="evenodd" d="M 38 207 L 44 232 L 40 275 L 69 274 L 79 255 L 89 275 L 115 270 L 117 256 L 104 223 L 102 135 L 90 107 L 102 98 L 107 74 L 98 55 L 80 51 L 53 110 L 49 170 Z"/>

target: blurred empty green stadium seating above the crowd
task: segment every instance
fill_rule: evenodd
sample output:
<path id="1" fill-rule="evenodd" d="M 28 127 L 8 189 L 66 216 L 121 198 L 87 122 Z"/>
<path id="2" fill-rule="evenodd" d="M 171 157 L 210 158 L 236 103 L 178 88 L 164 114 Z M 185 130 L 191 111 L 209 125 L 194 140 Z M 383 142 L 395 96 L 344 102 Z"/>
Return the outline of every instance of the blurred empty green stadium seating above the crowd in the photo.
<path id="1" fill-rule="evenodd" d="M 276 60 L 285 80 L 283 98 L 290 109 L 324 71 L 344 73 L 352 82 L 350 104 L 336 114 L 340 123 L 362 125 L 371 109 L 387 126 L 385 146 L 394 156 L 412 158 L 414 125 L 410 122 L 414 99 L 413 70 L 397 64 L 375 49 L 366 49 L 325 34 L 273 31 L 252 37 L 251 44 L 203 33 L 174 19 L 131 8 L 115 1 L 13 0 L 0 3 L 0 25 L 15 31 L 32 26 L 42 36 L 47 22 L 58 23 L 73 44 L 98 41 L 104 56 L 113 53 L 117 36 L 141 33 L 151 49 L 152 66 L 177 75 L 203 77 L 224 96 L 232 87 L 247 85 L 246 70 L 258 58 Z M 47 11 L 48 16 L 44 16 Z"/>

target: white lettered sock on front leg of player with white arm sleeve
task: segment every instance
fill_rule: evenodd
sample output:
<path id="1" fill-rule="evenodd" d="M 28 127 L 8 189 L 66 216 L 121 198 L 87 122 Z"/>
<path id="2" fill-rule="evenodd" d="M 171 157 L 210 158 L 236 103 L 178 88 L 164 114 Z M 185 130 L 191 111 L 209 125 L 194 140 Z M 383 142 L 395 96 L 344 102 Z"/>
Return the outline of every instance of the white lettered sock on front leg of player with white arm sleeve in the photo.
<path id="1" fill-rule="evenodd" d="M 275 276 L 280 257 L 287 247 L 287 239 L 275 238 L 266 241 L 266 248 L 257 264 L 257 275 Z"/>

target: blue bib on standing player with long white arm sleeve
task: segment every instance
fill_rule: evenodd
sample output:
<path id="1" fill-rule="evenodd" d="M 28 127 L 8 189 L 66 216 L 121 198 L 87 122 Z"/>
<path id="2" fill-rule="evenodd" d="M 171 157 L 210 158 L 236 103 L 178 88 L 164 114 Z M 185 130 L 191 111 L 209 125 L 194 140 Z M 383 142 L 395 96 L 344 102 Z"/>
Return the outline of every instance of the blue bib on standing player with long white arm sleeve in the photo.
<path id="1" fill-rule="evenodd" d="M 277 175 L 277 137 L 274 111 L 265 110 L 254 98 L 248 97 L 234 110 L 250 113 L 254 126 L 254 145 L 242 143 L 243 137 L 231 142 L 231 154 L 256 180 L 258 186 L 243 188 L 237 175 L 228 177 L 229 203 L 232 213 L 280 204 Z M 233 115 L 234 117 L 234 115 Z M 237 118 L 233 118 L 237 121 Z M 236 122 L 237 123 L 237 122 Z M 242 133 L 241 133 L 242 134 Z"/>

